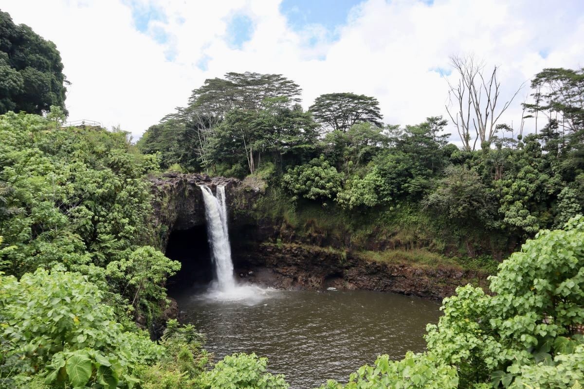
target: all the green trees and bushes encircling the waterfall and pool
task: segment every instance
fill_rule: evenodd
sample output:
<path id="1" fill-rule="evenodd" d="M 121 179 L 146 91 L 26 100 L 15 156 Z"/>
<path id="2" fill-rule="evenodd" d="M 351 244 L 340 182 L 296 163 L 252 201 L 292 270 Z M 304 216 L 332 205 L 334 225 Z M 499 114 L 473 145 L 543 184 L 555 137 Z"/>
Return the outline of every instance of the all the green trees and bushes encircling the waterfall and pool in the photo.
<path id="1" fill-rule="evenodd" d="M 212 365 L 196 328 L 166 320 L 180 263 L 161 251 L 148 175 L 171 166 L 265 181 L 274 212 L 360 214 L 349 229 L 374 234 L 405 220 L 417 246 L 500 262 L 488 289 L 444 300 L 426 352 L 322 388 L 582 387 L 584 69 L 534 77 L 533 134 L 491 121 L 471 139 L 450 110 L 460 148 L 442 117 L 383 124 L 374 97 L 345 92 L 305 111 L 300 86 L 259 73 L 207 80 L 134 145 L 65 127 L 54 44 L 6 13 L 0 31 L 0 387 L 288 388 L 255 354 Z M 471 90 L 472 63 L 454 62 Z"/>

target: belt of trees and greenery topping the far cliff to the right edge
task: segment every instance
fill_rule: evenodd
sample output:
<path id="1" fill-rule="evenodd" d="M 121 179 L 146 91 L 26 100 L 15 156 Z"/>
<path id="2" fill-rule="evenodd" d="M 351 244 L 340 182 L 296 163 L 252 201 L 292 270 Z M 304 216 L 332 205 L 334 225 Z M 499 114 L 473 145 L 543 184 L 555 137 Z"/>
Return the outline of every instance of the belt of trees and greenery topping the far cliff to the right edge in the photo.
<path id="1" fill-rule="evenodd" d="M 396 220 L 408 209 L 416 233 L 400 246 L 500 260 L 584 210 L 582 71 L 544 69 L 532 87 L 525 119 L 539 115 L 531 124 L 543 128 L 523 136 L 527 122 L 519 135 L 498 125 L 491 148 L 470 151 L 448 143 L 442 117 L 384 125 L 377 100 L 352 93 L 324 94 L 304 112 L 291 100 L 299 89 L 290 80 L 228 73 L 207 80 L 189 107 L 148 129 L 138 146 L 160 152 L 164 167 L 240 178 L 261 172 L 280 209 L 326 205 L 325 218 L 341 219 L 363 213 L 371 224 L 352 223 L 347 233 L 369 230 L 370 240 L 403 230 Z"/>

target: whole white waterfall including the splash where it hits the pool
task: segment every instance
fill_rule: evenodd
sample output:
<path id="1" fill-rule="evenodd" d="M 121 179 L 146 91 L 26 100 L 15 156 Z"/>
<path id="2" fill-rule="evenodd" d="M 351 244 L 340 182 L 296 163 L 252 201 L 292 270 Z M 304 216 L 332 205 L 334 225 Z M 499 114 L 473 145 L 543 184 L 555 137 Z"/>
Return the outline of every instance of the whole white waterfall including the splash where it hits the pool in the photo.
<path id="1" fill-rule="evenodd" d="M 225 185 L 217 185 L 216 196 L 213 195 L 211 188 L 205 185 L 199 185 L 199 187 L 203 192 L 211 259 L 215 264 L 217 274 L 216 282 L 207 297 L 218 300 L 246 299 L 251 303 L 258 302 L 263 298 L 266 290 L 253 285 L 237 285 L 233 275 Z"/>

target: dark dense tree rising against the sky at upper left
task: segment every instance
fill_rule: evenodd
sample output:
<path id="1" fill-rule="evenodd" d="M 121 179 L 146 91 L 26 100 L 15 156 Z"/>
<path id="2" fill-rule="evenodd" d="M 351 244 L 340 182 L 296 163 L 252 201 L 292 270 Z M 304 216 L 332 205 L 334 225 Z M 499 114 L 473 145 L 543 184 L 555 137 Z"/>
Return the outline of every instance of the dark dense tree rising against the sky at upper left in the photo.
<path id="1" fill-rule="evenodd" d="M 57 47 L 0 11 L 0 114 L 65 107 L 68 84 Z"/>

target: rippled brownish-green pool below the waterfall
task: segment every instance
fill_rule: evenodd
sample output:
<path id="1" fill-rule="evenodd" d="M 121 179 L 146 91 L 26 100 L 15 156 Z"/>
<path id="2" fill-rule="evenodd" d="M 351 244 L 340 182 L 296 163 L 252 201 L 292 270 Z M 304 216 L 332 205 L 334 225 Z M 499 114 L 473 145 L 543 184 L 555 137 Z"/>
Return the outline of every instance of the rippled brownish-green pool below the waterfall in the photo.
<path id="1" fill-rule="evenodd" d="M 269 371 L 284 374 L 294 389 L 346 382 L 380 354 L 421 352 L 426 324 L 440 316 L 435 302 L 365 290 L 258 291 L 235 302 L 197 290 L 174 297 L 181 321 L 207 335 L 214 362 L 234 352 L 267 356 Z"/>

